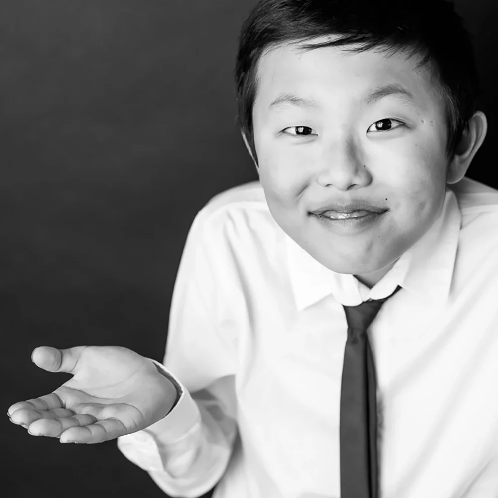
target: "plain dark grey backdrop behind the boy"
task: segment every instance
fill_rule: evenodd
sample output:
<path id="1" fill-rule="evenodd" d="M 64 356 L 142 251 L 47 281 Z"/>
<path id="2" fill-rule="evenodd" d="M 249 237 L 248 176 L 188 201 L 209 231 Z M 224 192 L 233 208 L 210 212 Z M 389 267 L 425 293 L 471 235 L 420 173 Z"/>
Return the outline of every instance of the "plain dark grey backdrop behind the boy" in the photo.
<path id="1" fill-rule="evenodd" d="M 256 179 L 232 78 L 254 0 L 1 0 L 3 410 L 69 375 L 34 347 L 129 347 L 162 360 L 190 224 Z M 495 0 L 459 0 L 490 129 L 468 174 L 498 187 Z M 444 29 L 444 26 L 441 27 Z M 1 422 L 1 492 L 164 497 L 110 441 L 61 445 Z"/>

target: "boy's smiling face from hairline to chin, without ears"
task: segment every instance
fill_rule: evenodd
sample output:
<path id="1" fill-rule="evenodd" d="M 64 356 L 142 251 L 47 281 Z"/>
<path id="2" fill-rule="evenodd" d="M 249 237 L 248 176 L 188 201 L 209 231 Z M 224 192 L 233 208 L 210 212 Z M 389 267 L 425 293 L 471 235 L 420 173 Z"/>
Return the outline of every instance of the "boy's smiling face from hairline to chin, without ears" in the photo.
<path id="1" fill-rule="evenodd" d="M 444 200 L 444 102 L 417 62 L 287 44 L 258 66 L 254 142 L 273 217 L 324 266 L 371 285 L 431 227 Z M 357 201 L 382 213 L 328 217 Z"/>

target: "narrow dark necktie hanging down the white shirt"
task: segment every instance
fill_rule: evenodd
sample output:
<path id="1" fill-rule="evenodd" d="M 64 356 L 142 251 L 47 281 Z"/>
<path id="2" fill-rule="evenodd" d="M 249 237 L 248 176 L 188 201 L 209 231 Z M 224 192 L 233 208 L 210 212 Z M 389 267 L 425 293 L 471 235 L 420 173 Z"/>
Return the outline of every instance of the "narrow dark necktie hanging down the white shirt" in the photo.
<path id="1" fill-rule="evenodd" d="M 388 297 L 343 306 L 348 321 L 341 382 L 341 498 L 378 498 L 376 378 L 367 329 Z"/>

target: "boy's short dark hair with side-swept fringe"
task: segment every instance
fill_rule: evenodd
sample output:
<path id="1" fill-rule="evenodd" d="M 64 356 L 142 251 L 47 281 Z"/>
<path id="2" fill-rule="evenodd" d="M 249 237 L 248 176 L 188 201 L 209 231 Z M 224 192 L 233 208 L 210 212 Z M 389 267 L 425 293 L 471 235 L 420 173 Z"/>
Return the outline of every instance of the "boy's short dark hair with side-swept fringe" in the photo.
<path id="1" fill-rule="evenodd" d="M 333 41 L 308 43 L 338 35 Z M 260 0 L 242 25 L 235 80 L 238 119 L 257 162 L 252 108 L 257 65 L 265 50 L 299 42 L 304 50 L 340 46 L 351 52 L 408 52 L 428 64 L 446 107 L 446 153 L 453 157 L 477 108 L 479 79 L 462 18 L 448 0 Z M 348 45 L 356 45 L 348 47 Z"/>

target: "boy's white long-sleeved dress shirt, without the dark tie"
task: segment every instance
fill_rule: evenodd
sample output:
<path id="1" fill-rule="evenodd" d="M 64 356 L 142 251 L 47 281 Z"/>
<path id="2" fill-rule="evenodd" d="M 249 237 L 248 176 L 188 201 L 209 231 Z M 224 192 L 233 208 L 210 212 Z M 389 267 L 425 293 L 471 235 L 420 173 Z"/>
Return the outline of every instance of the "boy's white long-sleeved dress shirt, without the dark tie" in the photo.
<path id="1" fill-rule="evenodd" d="M 159 367 L 181 397 L 119 449 L 173 497 L 219 482 L 214 498 L 339 498 L 342 305 L 400 285 L 369 329 L 380 497 L 497 498 L 498 191 L 450 189 L 372 289 L 290 239 L 258 182 L 214 197 L 187 238 Z"/>

